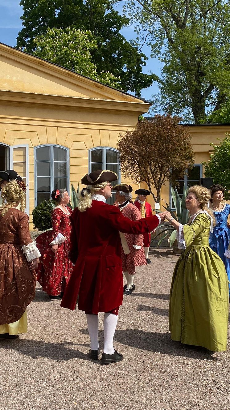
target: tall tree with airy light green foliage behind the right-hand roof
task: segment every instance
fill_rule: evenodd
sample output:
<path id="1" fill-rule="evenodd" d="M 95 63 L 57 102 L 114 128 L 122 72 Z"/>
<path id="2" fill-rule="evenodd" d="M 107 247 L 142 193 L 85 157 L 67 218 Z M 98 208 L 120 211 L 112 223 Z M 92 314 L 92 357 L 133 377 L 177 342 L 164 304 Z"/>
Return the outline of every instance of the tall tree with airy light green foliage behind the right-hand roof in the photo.
<path id="1" fill-rule="evenodd" d="M 230 93 L 230 0 L 130 0 L 138 41 L 163 63 L 153 109 L 205 120 Z"/>

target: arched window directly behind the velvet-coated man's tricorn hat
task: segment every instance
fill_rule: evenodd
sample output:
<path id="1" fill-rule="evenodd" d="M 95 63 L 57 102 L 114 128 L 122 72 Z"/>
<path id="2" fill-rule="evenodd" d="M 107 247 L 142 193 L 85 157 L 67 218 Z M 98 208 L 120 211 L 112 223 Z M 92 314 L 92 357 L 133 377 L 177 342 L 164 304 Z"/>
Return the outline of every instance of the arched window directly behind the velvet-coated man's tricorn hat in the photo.
<path id="1" fill-rule="evenodd" d="M 121 182 L 120 161 L 118 151 L 110 147 L 96 147 L 89 150 L 89 173 L 99 169 L 108 169 L 118 175 L 118 179 L 112 182 L 112 185 Z M 107 203 L 114 203 L 115 192 L 112 192 L 112 198 Z"/>

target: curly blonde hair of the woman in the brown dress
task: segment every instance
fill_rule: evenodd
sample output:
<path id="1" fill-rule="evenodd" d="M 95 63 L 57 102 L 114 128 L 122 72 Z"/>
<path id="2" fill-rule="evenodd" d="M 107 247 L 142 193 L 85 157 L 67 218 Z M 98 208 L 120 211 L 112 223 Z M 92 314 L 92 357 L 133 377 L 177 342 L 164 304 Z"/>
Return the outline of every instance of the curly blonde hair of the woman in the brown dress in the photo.
<path id="1" fill-rule="evenodd" d="M 25 211 L 25 193 L 16 180 L 11 180 L 2 187 L 1 196 L 7 201 L 0 207 L 0 216 L 4 216 L 9 209 L 15 207 L 20 202 L 20 210 Z"/>

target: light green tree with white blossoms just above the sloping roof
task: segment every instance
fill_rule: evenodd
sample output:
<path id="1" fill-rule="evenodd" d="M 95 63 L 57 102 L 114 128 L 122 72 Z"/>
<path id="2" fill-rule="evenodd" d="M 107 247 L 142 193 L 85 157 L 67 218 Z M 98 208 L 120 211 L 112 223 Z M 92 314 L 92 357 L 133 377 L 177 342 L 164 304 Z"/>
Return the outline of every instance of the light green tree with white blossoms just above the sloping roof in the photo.
<path id="1" fill-rule="evenodd" d="M 80 74 L 121 88 L 120 80 L 109 72 L 98 73 L 92 62 L 91 52 L 97 48 L 97 43 L 90 31 L 48 28 L 45 34 L 34 39 L 36 48 L 33 52 L 37 57 L 52 63 L 77 71 Z"/>

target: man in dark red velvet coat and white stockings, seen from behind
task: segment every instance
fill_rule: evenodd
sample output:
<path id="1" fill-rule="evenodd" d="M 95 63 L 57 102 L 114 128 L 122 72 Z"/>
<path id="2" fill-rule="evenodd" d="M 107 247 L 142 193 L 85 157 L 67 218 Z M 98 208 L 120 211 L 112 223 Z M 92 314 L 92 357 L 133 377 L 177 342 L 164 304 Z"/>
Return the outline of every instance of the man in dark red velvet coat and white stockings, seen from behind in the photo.
<path id="1" fill-rule="evenodd" d="M 109 182 L 118 179 L 113 171 L 94 171 L 81 180 L 87 185 L 71 214 L 69 257 L 75 264 L 61 306 L 85 310 L 90 337 L 90 358 L 98 359 L 98 312 L 104 314 L 102 363 L 123 360 L 114 350 L 118 309 L 123 301 L 123 274 L 119 232 L 133 235 L 150 232 L 163 221 L 163 214 L 139 221 L 125 218 L 117 207 L 106 204 L 112 196 Z"/>

